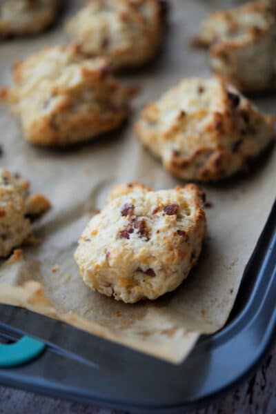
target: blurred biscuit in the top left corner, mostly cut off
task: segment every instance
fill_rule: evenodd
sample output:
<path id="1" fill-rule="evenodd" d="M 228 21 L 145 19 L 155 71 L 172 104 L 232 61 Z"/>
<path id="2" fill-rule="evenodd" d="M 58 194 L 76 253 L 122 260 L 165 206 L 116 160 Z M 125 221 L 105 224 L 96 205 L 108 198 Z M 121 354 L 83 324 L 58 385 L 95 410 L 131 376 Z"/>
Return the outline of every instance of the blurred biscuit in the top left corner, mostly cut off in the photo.
<path id="1" fill-rule="evenodd" d="M 9 0 L 0 6 L 0 38 L 42 32 L 56 19 L 59 0 Z"/>

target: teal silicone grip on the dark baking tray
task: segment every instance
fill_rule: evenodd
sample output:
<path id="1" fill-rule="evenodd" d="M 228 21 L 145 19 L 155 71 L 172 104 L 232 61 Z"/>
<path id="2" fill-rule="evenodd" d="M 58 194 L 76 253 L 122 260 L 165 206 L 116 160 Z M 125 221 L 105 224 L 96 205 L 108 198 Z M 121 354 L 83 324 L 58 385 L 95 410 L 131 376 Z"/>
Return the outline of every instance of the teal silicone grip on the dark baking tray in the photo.
<path id="1" fill-rule="evenodd" d="M 28 336 L 12 344 L 0 344 L 0 367 L 26 364 L 40 355 L 45 344 Z"/>

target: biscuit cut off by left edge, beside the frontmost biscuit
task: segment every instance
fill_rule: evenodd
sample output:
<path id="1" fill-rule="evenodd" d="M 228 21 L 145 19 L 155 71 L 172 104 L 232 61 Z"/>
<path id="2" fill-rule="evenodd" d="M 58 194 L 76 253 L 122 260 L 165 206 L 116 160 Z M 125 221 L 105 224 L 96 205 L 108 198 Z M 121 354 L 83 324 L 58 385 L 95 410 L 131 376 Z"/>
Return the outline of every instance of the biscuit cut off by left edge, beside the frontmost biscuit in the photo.
<path id="1" fill-rule="evenodd" d="M 43 195 L 28 196 L 28 181 L 0 169 L 0 257 L 8 256 L 31 233 L 26 217 L 41 215 L 50 208 Z"/>

